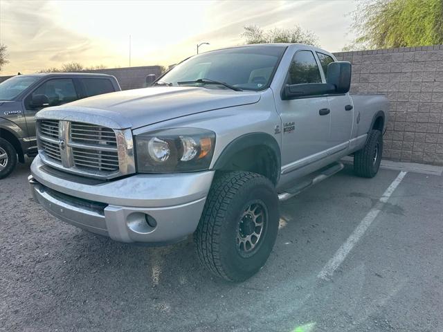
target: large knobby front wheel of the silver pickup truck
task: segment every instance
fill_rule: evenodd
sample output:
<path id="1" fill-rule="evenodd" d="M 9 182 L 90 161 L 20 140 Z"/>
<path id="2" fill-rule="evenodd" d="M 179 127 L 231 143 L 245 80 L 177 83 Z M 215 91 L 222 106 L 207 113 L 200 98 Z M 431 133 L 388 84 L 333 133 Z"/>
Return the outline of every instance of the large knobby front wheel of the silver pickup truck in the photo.
<path id="1" fill-rule="evenodd" d="M 242 282 L 266 263 L 278 222 L 271 181 L 251 172 L 217 176 L 195 233 L 199 259 L 214 275 Z"/>

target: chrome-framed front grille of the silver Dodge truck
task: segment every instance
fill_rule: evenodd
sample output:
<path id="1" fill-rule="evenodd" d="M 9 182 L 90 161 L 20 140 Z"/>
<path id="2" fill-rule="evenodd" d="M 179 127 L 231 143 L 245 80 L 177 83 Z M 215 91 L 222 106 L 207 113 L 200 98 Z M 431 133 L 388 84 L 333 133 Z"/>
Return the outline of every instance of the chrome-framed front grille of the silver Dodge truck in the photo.
<path id="1" fill-rule="evenodd" d="M 112 178 L 135 171 L 132 135 L 125 131 L 44 119 L 37 121 L 37 144 L 45 163 L 66 172 Z"/>

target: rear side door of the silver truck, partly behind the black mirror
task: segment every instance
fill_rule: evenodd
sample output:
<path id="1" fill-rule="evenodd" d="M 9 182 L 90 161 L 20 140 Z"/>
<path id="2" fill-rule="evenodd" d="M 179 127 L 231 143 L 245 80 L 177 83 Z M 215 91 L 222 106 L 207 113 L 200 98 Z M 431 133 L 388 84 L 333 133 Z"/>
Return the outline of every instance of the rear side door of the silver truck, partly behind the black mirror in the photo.
<path id="1" fill-rule="evenodd" d="M 327 65 L 334 62 L 334 59 L 324 53 L 317 52 L 318 59 L 327 78 Z M 347 147 L 351 138 L 352 124 L 354 123 L 354 110 L 349 93 L 341 95 L 329 95 L 327 97 L 331 108 L 331 135 L 329 142 L 332 153 L 341 151 Z"/>

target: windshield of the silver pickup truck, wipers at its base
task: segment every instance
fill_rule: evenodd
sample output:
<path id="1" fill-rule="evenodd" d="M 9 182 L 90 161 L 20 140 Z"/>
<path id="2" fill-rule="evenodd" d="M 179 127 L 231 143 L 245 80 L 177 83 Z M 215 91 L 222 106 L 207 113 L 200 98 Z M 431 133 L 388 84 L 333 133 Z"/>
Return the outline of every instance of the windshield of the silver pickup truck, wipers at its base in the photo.
<path id="1" fill-rule="evenodd" d="M 263 90 L 271 84 L 285 49 L 286 46 L 248 46 L 203 53 L 174 67 L 158 84 L 193 85 L 192 81 L 208 79 L 242 90 Z"/>

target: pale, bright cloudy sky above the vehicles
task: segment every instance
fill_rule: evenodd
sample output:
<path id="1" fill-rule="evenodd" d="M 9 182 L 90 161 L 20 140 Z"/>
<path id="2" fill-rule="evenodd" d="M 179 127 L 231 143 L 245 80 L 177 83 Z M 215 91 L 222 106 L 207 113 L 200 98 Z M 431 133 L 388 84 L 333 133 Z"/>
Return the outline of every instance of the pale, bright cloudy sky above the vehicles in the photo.
<path id="1" fill-rule="evenodd" d="M 353 0 L 311 1 L 9 1 L 0 0 L 1 75 L 35 73 L 66 62 L 109 68 L 168 66 L 201 51 L 244 44 L 243 26 L 314 31 L 321 47 L 348 44 Z"/>

